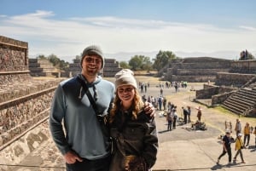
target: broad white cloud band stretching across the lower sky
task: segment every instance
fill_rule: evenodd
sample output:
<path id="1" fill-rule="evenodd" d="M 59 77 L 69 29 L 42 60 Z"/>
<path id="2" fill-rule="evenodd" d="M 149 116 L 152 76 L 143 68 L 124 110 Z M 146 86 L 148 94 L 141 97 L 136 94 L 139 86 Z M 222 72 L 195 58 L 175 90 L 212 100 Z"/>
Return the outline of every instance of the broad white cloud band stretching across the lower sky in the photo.
<path id="1" fill-rule="evenodd" d="M 213 52 L 255 50 L 256 29 L 112 16 L 55 20 L 50 11 L 0 18 L 0 32 L 29 43 L 29 54 L 76 55 L 89 44 L 105 53 L 161 50 Z M 242 29 L 241 29 L 242 28 Z"/>

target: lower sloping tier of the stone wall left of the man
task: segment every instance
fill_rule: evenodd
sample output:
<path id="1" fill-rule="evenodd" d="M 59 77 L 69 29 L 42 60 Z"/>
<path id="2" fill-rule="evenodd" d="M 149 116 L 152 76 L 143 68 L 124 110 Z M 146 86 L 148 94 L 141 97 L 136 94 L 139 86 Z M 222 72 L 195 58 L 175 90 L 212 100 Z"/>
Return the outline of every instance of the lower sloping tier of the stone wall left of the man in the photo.
<path id="1" fill-rule="evenodd" d="M 49 117 L 49 107 L 61 80 L 36 80 L 5 89 L 0 101 L 0 149 Z M 14 92 L 14 94 L 12 94 Z"/>

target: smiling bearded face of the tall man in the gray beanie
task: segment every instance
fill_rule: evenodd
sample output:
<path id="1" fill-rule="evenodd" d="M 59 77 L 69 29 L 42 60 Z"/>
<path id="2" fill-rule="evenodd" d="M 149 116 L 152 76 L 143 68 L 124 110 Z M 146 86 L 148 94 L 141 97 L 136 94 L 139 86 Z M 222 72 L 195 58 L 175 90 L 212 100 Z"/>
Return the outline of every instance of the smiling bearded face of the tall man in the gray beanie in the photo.
<path id="1" fill-rule="evenodd" d="M 102 69 L 102 58 L 96 54 L 86 54 L 82 61 L 82 74 L 96 76 Z"/>

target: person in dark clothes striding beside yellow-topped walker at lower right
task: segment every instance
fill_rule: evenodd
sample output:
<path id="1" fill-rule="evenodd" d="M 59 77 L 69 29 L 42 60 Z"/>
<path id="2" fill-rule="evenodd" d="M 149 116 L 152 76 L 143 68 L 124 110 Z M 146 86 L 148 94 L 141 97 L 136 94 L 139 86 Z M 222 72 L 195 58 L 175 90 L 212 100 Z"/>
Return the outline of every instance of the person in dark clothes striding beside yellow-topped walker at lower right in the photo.
<path id="1" fill-rule="evenodd" d="M 229 156 L 228 163 L 231 164 L 232 153 L 231 153 L 231 142 L 230 142 L 230 130 L 226 130 L 226 133 L 222 139 L 222 144 L 223 144 L 223 151 L 218 157 L 217 164 L 219 164 L 219 160 L 221 159 L 221 157 L 224 157 L 226 153 L 228 153 L 228 156 Z"/>

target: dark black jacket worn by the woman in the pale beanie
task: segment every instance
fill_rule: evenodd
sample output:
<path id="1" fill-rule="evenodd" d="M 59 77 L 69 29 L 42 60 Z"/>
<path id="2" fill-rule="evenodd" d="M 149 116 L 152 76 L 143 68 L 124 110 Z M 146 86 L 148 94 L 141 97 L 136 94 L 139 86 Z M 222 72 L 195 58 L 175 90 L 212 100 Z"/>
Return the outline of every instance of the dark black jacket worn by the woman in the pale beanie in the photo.
<path id="1" fill-rule="evenodd" d="M 158 138 L 154 118 L 141 111 L 137 120 L 131 119 L 131 111 L 118 111 L 110 125 L 113 138 L 113 157 L 110 171 L 125 170 L 125 156 L 133 155 L 143 159 L 147 169 L 156 161 Z"/>

